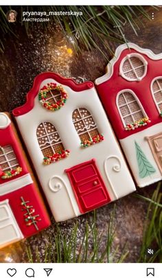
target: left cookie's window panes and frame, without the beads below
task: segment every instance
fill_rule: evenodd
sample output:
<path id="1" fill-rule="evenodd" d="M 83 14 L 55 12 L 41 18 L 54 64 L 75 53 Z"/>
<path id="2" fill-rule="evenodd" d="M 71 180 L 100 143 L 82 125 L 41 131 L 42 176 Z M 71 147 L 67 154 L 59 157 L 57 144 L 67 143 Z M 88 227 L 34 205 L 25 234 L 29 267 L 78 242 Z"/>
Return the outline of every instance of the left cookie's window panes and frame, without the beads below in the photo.
<path id="1" fill-rule="evenodd" d="M 3 172 L 14 170 L 19 167 L 19 163 L 14 154 L 12 146 L 0 146 L 0 168 Z"/>

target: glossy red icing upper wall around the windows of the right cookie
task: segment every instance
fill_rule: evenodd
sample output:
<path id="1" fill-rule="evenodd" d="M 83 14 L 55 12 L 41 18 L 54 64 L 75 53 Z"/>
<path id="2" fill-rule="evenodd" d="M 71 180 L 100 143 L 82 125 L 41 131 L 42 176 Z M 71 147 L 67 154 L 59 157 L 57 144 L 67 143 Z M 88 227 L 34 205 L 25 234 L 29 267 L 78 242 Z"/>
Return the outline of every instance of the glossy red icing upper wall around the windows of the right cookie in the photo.
<path id="1" fill-rule="evenodd" d="M 141 54 L 148 62 L 148 71 L 146 76 L 140 82 L 130 82 L 122 78 L 122 76 L 119 76 L 119 65 L 127 54 L 132 53 L 141 54 L 135 49 L 124 49 L 114 64 L 112 76 L 105 82 L 96 85 L 97 93 L 100 96 L 100 100 L 118 139 L 124 139 L 162 122 L 162 118 L 159 116 L 159 111 L 157 111 L 157 106 L 154 103 L 152 93 L 150 91 L 150 84 L 152 80 L 158 76 L 162 76 L 162 60 L 153 60 L 153 58 L 149 58 L 146 54 Z M 146 115 L 151 121 L 148 125 L 135 128 L 135 130 L 125 130 L 117 109 L 116 97 L 119 91 L 126 89 L 132 90 L 137 95 L 146 112 Z"/>

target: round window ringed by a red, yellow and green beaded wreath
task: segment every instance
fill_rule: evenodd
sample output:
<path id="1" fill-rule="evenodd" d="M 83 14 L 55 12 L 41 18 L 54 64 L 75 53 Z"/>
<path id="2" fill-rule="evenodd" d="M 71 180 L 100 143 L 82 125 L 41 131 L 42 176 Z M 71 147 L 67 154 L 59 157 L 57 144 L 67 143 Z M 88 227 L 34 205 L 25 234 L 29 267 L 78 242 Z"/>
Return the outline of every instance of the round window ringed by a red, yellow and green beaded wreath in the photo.
<path id="1" fill-rule="evenodd" d="M 67 102 L 67 92 L 61 85 L 47 83 L 40 89 L 38 100 L 49 111 L 57 111 Z"/>

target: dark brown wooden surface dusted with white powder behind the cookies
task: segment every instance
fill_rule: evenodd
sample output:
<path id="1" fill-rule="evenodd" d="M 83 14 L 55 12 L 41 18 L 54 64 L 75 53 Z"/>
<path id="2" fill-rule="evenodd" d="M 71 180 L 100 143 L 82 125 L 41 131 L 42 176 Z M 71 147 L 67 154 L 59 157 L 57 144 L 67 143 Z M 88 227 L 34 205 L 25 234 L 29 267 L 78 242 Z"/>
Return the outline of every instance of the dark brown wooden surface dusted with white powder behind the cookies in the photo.
<path id="1" fill-rule="evenodd" d="M 152 8 L 147 8 L 150 16 Z M 162 52 L 162 10 L 154 10 L 154 20 L 143 20 L 144 27 L 138 36 L 131 30 L 130 25 L 126 25 L 126 37 L 129 41 L 137 43 L 140 47 L 152 49 L 154 53 Z M 51 24 L 49 29 L 43 30 L 40 24 L 35 25 L 29 36 L 18 25 L 15 26 L 16 38 L 14 36 L 6 36 L 5 51 L 0 54 L 0 111 L 12 111 L 13 108 L 25 102 L 25 95 L 32 86 L 34 77 L 43 71 L 55 71 L 65 77 L 72 77 L 80 82 L 84 80 L 92 80 L 104 74 L 106 67 L 106 59 L 100 51 L 82 50 L 80 56 L 67 55 L 66 51 L 60 49 L 57 44 L 58 33 L 56 28 Z M 115 50 L 116 45 L 111 43 L 111 47 Z M 58 53 L 60 53 L 58 55 Z M 108 53 L 108 52 L 107 52 Z M 78 78 L 80 77 L 80 78 Z M 143 92 L 144 93 L 144 92 Z M 151 196 L 157 185 L 151 185 L 149 188 L 138 189 L 140 194 Z M 115 224 L 116 234 L 114 242 L 114 250 L 119 245 L 117 256 L 122 253 L 122 249 L 127 242 L 127 250 L 129 251 L 126 262 L 136 262 L 139 257 L 141 241 L 143 237 L 143 222 L 146 219 L 146 211 L 148 203 L 135 198 L 133 194 L 126 196 L 116 202 Z M 103 233 L 101 246 L 105 246 L 106 227 L 110 218 L 113 204 L 106 205 L 97 209 L 97 227 L 100 233 Z M 91 213 L 90 213 L 91 216 Z M 84 225 L 89 216 L 81 216 L 78 218 L 78 241 L 83 237 Z M 76 220 L 69 220 L 60 224 L 63 233 L 70 233 L 71 227 Z M 34 238 L 29 238 L 21 244 L 23 250 L 25 246 L 31 246 L 32 252 L 36 250 L 43 257 L 45 252 L 45 244 L 49 235 L 54 235 L 54 222 L 47 231 L 40 233 Z M 101 250 L 102 252 L 102 250 Z M 17 262 L 26 262 L 26 253 L 16 255 Z M 1 253 L 0 253 L 1 260 Z"/>

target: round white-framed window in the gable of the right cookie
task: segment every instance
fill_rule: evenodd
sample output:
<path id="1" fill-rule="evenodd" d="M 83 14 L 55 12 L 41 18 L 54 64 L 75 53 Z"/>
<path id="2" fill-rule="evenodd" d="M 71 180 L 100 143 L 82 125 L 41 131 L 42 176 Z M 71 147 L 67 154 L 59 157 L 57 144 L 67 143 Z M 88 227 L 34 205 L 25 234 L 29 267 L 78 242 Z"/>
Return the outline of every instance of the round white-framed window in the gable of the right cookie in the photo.
<path id="1" fill-rule="evenodd" d="M 141 54 L 128 54 L 122 60 L 119 74 L 128 81 L 141 81 L 147 73 L 148 62 Z"/>

